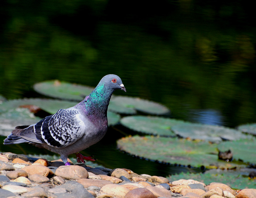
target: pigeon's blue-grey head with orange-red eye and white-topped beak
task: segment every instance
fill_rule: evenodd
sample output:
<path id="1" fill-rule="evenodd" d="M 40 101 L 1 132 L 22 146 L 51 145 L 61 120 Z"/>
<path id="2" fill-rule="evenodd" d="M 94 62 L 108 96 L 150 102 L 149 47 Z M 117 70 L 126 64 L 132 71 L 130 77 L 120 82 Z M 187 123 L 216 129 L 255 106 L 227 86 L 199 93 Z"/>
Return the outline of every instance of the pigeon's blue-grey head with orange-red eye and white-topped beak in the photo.
<path id="1" fill-rule="evenodd" d="M 124 92 L 126 92 L 126 89 L 122 83 L 121 78 L 119 78 L 119 76 L 114 75 L 114 74 L 109 74 L 104 76 L 99 84 L 104 84 L 105 87 L 108 87 L 108 89 L 111 89 L 113 91 L 117 90 L 117 89 L 121 89 Z"/>

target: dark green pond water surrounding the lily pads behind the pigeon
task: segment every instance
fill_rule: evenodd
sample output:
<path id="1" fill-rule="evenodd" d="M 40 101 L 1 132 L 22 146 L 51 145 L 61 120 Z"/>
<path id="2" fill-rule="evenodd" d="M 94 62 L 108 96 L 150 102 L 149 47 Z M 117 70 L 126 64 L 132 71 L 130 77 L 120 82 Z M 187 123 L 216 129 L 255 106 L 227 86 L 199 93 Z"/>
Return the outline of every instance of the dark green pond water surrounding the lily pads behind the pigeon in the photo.
<path id="1" fill-rule="evenodd" d="M 114 73 L 127 89 L 116 95 L 162 103 L 173 118 L 228 127 L 256 122 L 251 9 L 242 1 L 4 1 L 0 94 L 7 99 L 44 97 L 33 91 L 34 83 L 59 79 L 96 86 Z M 130 133 L 110 128 L 83 153 L 107 168 L 139 174 L 200 171 L 116 150 L 116 139 Z M 51 154 L 26 144 L 1 144 L 0 150 Z"/>

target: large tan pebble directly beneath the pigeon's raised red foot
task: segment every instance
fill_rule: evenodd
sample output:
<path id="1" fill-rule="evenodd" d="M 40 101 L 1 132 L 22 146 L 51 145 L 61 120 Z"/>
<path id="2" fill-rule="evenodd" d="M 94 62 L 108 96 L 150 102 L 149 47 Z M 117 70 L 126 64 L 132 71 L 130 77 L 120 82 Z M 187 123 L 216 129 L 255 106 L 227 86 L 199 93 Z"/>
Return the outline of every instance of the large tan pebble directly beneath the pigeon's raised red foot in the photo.
<path id="1" fill-rule="evenodd" d="M 55 175 L 67 180 L 86 179 L 89 176 L 85 168 L 77 165 L 60 166 L 57 168 Z"/>

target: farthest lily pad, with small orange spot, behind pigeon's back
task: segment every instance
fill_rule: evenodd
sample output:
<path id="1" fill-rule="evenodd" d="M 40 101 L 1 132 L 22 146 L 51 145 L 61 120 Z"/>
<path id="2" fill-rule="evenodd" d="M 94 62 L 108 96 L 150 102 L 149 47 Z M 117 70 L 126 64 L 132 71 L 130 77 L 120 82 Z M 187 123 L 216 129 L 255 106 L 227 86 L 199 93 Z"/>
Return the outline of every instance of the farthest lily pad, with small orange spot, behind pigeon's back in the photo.
<path id="1" fill-rule="evenodd" d="M 34 85 L 34 90 L 42 95 L 77 101 L 82 101 L 93 89 L 93 87 L 58 80 L 44 81 Z"/>

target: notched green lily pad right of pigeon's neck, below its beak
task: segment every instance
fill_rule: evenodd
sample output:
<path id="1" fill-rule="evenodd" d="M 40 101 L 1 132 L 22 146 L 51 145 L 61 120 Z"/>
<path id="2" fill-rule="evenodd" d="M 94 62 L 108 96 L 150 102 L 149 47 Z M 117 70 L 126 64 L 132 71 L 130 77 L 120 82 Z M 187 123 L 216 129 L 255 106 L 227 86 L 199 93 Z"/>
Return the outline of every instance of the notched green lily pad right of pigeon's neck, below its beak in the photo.
<path id="1" fill-rule="evenodd" d="M 152 115 L 170 113 L 170 110 L 166 106 L 157 102 L 127 96 L 113 97 L 109 103 L 109 109 L 121 114 L 136 114 L 136 110 Z"/>

